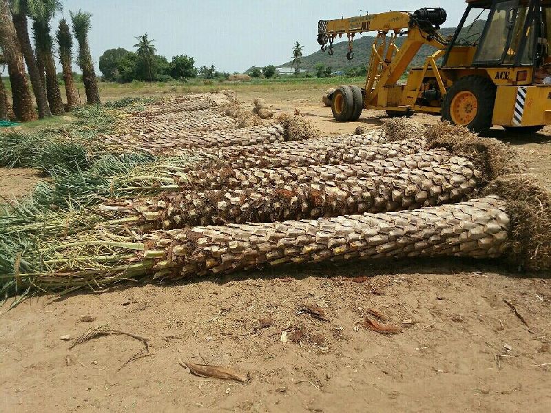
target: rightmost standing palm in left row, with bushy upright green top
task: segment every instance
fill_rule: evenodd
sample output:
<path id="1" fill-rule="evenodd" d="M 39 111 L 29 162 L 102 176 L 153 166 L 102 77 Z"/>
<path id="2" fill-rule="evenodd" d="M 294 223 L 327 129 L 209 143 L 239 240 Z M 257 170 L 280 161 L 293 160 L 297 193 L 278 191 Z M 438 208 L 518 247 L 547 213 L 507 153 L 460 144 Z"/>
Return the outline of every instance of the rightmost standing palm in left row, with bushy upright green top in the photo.
<path id="1" fill-rule="evenodd" d="M 99 99 L 98 81 L 94 71 L 92 54 L 90 54 L 90 45 L 88 44 L 88 32 L 92 28 L 92 22 L 90 21 L 92 14 L 81 10 L 76 14 L 70 13 L 74 36 L 76 41 L 79 42 L 78 63 L 82 70 L 84 88 L 86 89 L 86 102 L 88 105 L 96 105 L 101 103 L 101 100 Z"/>

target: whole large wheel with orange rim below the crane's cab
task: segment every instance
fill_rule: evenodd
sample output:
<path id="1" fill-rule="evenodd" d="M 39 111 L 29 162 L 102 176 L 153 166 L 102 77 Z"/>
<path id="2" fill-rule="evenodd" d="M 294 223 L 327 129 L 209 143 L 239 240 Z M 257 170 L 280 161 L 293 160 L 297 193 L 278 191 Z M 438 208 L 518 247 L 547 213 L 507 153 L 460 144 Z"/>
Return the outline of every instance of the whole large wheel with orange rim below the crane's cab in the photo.
<path id="1" fill-rule="evenodd" d="M 442 118 L 481 132 L 492 127 L 496 87 L 488 78 L 465 76 L 455 82 L 442 102 Z"/>

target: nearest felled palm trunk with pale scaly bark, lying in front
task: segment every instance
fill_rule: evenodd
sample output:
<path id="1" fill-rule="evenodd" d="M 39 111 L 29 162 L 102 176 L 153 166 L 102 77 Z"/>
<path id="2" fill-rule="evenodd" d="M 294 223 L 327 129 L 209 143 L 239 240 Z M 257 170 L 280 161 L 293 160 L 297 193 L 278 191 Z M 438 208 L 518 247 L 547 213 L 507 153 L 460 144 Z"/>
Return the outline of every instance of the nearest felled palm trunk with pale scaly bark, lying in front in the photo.
<path id="1" fill-rule="evenodd" d="M 156 231 L 146 237 L 145 260 L 155 260 L 155 277 L 181 278 L 287 263 L 492 258 L 504 253 L 509 226 L 506 202 L 488 197 L 415 211 Z"/>

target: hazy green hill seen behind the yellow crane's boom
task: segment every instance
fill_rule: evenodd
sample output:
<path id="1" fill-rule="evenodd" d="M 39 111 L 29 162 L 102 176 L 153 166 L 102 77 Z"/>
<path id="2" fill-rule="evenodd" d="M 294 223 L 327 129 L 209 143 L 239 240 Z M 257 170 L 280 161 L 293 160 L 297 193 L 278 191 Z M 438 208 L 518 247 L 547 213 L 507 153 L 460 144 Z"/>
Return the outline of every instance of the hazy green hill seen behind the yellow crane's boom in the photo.
<path id="1" fill-rule="evenodd" d="M 470 28 L 470 32 L 481 32 L 485 24 L 486 21 L 477 21 L 475 25 Z M 440 33 L 444 37 L 453 36 L 455 30 L 456 28 L 442 28 Z M 464 28 L 464 30 L 468 30 L 468 28 Z M 461 31 L 463 32 L 464 30 Z M 313 35 L 312 38 L 315 39 L 315 35 Z M 401 47 L 405 40 L 406 36 L 399 36 L 396 41 L 396 45 Z M 318 65 L 318 63 L 321 63 L 324 66 L 331 66 L 333 72 L 346 72 L 346 70 L 349 70 L 352 67 L 366 66 L 369 59 L 371 59 L 371 46 L 373 45 L 373 41 L 375 41 L 375 36 L 362 36 L 359 39 L 355 39 L 353 41 L 354 59 L 352 61 L 346 60 L 348 41 L 334 43 L 333 50 L 335 50 L 335 54 L 333 54 L 333 56 L 329 56 L 326 51 L 322 52 L 321 50 L 318 50 L 318 52 L 309 54 L 308 56 L 303 56 L 300 63 L 300 68 L 306 69 L 308 72 L 313 73 L 315 72 L 315 65 Z M 419 67 L 424 65 L 426 58 L 434 52 L 435 50 L 433 47 L 424 45 L 410 63 L 410 67 Z M 288 61 L 287 63 L 283 63 L 282 65 L 278 65 L 276 67 L 291 67 L 291 63 L 292 61 Z"/>

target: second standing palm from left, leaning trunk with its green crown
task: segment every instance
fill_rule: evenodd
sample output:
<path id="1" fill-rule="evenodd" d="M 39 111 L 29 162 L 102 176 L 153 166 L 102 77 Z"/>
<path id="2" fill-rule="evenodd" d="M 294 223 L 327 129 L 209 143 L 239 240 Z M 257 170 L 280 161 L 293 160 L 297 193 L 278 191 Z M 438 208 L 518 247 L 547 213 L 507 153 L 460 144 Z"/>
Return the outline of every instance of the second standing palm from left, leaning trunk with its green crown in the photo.
<path id="1" fill-rule="evenodd" d="M 52 116 L 52 113 L 50 112 L 50 107 L 48 107 L 48 99 L 46 98 L 46 91 L 41 80 L 37 59 L 34 56 L 34 50 L 32 50 L 27 23 L 27 16 L 32 16 L 33 14 L 39 12 L 42 3 L 39 0 L 10 1 L 12 5 L 12 20 L 15 26 L 15 31 L 17 32 L 17 38 L 19 39 L 21 51 L 23 52 L 25 62 L 27 63 L 32 92 L 34 93 L 34 98 L 37 100 L 37 106 L 39 108 L 39 119 L 47 118 Z"/>

